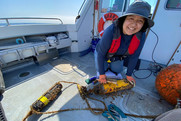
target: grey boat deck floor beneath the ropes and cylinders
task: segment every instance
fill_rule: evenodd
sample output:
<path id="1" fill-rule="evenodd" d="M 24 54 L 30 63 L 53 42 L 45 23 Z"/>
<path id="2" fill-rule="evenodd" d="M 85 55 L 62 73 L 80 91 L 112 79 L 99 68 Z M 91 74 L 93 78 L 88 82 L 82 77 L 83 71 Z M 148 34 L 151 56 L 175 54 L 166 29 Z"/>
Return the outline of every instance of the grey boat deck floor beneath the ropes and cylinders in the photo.
<path id="1" fill-rule="evenodd" d="M 142 69 L 150 66 L 150 62 L 141 61 Z M 150 74 L 147 70 L 137 71 L 138 77 Z M 79 57 L 79 53 L 67 53 L 45 65 L 26 64 L 19 68 L 3 71 L 6 91 L 1 101 L 8 121 L 20 121 L 30 111 L 30 105 L 58 81 L 77 82 L 87 86 L 85 79 L 95 76 L 94 55 L 89 53 Z M 123 74 L 124 77 L 124 74 Z M 137 115 L 158 115 L 173 108 L 161 100 L 155 89 L 155 76 L 151 74 L 145 79 L 136 79 L 136 86 L 131 90 L 121 92 L 121 95 L 92 97 L 102 100 L 108 106 L 114 103 L 125 113 Z M 56 100 L 48 104 L 43 111 L 60 109 L 86 108 L 86 102 L 81 98 L 74 84 L 62 83 L 62 93 Z M 99 102 L 89 100 L 92 107 L 104 108 Z M 129 117 L 131 121 L 145 121 Z M 87 110 L 67 111 L 56 114 L 32 115 L 28 121 L 107 121 L 102 115 L 94 115 Z"/>

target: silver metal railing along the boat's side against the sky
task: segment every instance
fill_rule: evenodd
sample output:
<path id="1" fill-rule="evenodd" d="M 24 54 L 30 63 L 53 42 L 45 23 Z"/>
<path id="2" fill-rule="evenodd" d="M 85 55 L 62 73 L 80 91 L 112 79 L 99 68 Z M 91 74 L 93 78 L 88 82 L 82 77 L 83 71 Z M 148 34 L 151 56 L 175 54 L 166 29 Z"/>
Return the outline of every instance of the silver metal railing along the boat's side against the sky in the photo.
<path id="1" fill-rule="evenodd" d="M 40 17 L 13 17 L 13 18 L 0 18 L 0 20 L 5 20 L 6 21 L 6 24 L 8 25 L 8 26 L 10 26 L 11 24 L 10 24 L 10 22 L 9 22 L 9 20 L 23 20 L 23 19 L 28 19 L 28 20 L 30 20 L 30 19 L 40 19 L 40 20 L 58 20 L 58 21 L 60 21 L 61 22 L 61 24 L 63 24 L 63 21 L 61 20 L 61 19 L 59 19 L 59 18 L 40 18 Z"/>

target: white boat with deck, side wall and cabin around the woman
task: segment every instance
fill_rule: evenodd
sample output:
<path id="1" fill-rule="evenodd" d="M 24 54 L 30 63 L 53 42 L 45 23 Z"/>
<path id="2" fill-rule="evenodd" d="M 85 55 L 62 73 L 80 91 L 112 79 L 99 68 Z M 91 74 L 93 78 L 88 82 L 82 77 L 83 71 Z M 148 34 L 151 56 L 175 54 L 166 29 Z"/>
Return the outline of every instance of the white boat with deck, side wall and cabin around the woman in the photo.
<path id="1" fill-rule="evenodd" d="M 63 24 L 61 18 L 0 18 L 0 91 L 2 121 L 21 121 L 30 106 L 52 85 L 59 81 L 76 82 L 88 86 L 87 78 L 96 76 L 91 41 L 100 38 L 99 20 L 107 13 L 122 15 L 130 0 L 113 10 L 116 0 L 86 0 L 75 24 Z M 98 3 L 97 9 L 94 5 Z M 140 69 L 134 74 L 136 86 L 117 96 L 92 97 L 108 106 L 113 103 L 126 114 L 159 115 L 174 108 L 159 95 L 155 79 L 160 67 L 181 63 L 181 4 L 179 1 L 157 0 L 153 7 L 154 27 L 147 31 L 147 38 L 140 55 Z M 107 6 L 107 4 L 109 4 Z M 10 20 L 51 20 L 50 23 L 13 24 Z M 56 21 L 55 23 L 52 22 Z M 24 22 L 22 22 L 24 23 Z M 105 22 L 105 28 L 110 24 Z M 104 28 L 104 29 L 105 29 Z M 159 67 L 159 69 L 157 68 Z M 154 69 L 156 72 L 149 71 Z M 123 74 L 124 76 L 124 74 Z M 62 92 L 43 108 L 43 112 L 63 109 L 80 109 L 50 114 L 33 114 L 28 121 L 107 121 L 87 108 L 77 86 L 63 83 Z M 92 108 L 104 108 L 97 101 L 89 100 Z M 2 118 L 1 118 L 2 117 Z M 130 121 L 152 119 L 128 116 Z"/>

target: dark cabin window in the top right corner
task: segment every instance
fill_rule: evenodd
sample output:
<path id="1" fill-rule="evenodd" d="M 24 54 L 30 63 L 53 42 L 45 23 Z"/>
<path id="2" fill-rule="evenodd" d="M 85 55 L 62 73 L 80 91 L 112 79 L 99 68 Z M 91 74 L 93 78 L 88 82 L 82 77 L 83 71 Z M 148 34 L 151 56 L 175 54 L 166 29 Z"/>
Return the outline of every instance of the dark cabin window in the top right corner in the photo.
<path id="1" fill-rule="evenodd" d="M 181 9 L 181 0 L 168 0 L 166 4 L 168 9 Z"/>

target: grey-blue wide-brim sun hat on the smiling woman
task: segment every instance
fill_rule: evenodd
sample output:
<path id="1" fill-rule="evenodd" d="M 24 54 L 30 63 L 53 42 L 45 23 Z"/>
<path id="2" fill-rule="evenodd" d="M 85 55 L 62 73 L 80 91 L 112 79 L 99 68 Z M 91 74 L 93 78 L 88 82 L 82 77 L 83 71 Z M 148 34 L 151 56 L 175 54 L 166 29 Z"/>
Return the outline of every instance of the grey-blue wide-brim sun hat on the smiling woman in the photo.
<path id="1" fill-rule="evenodd" d="M 126 12 L 120 16 L 119 18 L 128 16 L 128 15 L 138 15 L 142 16 L 147 20 L 148 28 L 152 27 L 154 25 L 153 20 L 149 18 L 151 11 L 151 6 L 142 0 L 136 0 L 134 1 L 126 10 Z"/>

